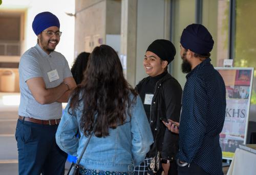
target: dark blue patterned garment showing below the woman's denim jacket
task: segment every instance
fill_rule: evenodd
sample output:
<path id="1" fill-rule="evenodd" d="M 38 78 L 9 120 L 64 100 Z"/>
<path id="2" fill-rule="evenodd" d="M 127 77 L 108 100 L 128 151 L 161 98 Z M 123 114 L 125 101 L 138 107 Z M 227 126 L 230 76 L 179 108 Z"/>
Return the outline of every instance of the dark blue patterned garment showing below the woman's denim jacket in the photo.
<path id="1" fill-rule="evenodd" d="M 134 172 L 122 172 L 122 171 L 102 171 L 95 169 L 86 169 L 80 167 L 79 173 L 82 175 L 134 175 Z"/>

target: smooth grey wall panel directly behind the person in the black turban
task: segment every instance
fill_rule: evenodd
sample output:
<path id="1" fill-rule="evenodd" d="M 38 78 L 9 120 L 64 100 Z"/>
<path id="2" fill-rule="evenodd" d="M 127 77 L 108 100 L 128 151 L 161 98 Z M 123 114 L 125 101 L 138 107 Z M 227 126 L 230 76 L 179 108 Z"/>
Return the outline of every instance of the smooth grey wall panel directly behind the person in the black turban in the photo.
<path id="1" fill-rule="evenodd" d="M 138 0 L 136 84 L 138 84 L 138 82 L 143 78 L 147 77 L 143 68 L 143 58 L 148 45 L 156 39 L 164 39 L 165 37 L 164 14 L 164 0 Z"/>

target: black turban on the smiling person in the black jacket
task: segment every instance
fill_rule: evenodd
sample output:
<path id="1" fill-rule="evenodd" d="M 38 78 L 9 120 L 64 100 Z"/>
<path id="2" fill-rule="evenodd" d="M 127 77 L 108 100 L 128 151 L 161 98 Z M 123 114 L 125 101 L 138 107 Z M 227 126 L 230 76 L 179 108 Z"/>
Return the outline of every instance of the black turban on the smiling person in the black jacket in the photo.
<path id="1" fill-rule="evenodd" d="M 146 51 L 153 52 L 159 58 L 167 61 L 168 64 L 173 61 L 176 55 L 176 49 L 172 42 L 165 39 L 157 39 L 148 46 Z"/>

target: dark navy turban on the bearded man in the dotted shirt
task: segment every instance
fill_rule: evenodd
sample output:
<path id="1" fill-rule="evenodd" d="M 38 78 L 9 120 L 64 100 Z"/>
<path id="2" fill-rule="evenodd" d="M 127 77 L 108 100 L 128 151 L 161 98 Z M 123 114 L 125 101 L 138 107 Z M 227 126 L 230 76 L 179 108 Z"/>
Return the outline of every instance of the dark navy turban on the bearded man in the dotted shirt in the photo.
<path id="1" fill-rule="evenodd" d="M 209 31 L 202 24 L 195 23 L 183 30 L 180 43 L 184 48 L 200 55 L 207 55 L 214 46 L 214 40 Z"/>

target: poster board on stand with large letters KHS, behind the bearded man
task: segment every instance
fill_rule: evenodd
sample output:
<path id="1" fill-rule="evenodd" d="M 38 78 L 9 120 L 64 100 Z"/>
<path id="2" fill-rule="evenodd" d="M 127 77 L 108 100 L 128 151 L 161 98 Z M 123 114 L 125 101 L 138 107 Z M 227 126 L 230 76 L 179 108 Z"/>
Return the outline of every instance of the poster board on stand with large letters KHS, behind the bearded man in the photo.
<path id="1" fill-rule="evenodd" d="M 254 68 L 216 67 L 226 86 L 226 116 L 220 134 L 222 158 L 232 159 L 246 143 Z"/>

